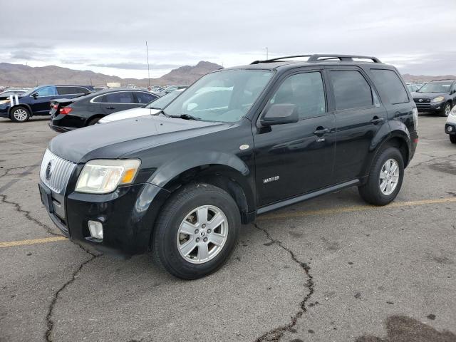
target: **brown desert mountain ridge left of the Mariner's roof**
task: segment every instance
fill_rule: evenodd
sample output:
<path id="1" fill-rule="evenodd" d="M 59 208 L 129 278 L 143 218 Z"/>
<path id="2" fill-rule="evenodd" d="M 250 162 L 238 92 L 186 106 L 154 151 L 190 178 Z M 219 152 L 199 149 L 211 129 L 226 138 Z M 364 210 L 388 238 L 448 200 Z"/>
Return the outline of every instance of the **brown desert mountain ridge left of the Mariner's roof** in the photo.
<path id="1" fill-rule="evenodd" d="M 222 66 L 200 61 L 196 66 L 181 66 L 160 78 L 151 78 L 151 85 L 179 84 L 187 85 L 201 76 L 215 71 Z M 73 70 L 60 66 L 31 67 L 23 64 L 0 63 L 0 86 L 33 87 L 41 84 L 93 84 L 103 86 L 108 82 L 128 83 L 135 86 L 147 86 L 147 78 L 120 78 L 93 71 Z"/>

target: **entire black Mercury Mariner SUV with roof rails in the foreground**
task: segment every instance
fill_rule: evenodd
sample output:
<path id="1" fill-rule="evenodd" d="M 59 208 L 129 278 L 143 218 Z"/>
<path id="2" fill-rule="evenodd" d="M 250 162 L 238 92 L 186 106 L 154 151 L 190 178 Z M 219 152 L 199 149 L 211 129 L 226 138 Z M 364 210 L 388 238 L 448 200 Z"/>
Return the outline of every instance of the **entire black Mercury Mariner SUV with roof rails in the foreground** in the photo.
<path id="1" fill-rule="evenodd" d="M 53 222 L 99 249 L 152 250 L 196 279 L 258 214 L 351 186 L 393 201 L 418 143 L 398 71 L 373 57 L 297 57 L 209 73 L 157 115 L 53 138 L 39 183 Z"/>

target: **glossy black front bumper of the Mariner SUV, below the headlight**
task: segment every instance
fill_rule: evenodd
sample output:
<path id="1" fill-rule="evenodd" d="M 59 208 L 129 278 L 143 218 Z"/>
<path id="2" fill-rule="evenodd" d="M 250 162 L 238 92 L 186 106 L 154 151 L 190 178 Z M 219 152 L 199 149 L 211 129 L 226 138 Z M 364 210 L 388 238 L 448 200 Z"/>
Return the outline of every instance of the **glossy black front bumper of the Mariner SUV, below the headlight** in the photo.
<path id="1" fill-rule="evenodd" d="M 62 200 L 43 182 L 39 185 L 49 217 L 66 237 L 90 244 L 102 252 L 123 255 L 147 252 L 153 224 L 169 195 L 160 187 L 143 183 L 119 187 L 105 195 L 71 192 Z M 43 192 L 47 195 L 43 196 Z M 47 201 L 43 198 L 46 196 Z M 63 205 L 64 214 L 54 210 L 53 206 L 57 204 Z M 90 237 L 89 220 L 103 224 L 103 240 Z"/>

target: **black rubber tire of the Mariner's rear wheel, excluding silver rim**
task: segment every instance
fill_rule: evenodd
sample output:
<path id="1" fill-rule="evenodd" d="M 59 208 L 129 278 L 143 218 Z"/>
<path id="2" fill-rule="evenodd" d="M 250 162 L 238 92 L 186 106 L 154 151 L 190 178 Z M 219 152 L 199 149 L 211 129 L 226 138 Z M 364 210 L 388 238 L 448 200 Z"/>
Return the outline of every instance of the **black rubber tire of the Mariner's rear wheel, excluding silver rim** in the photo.
<path id="1" fill-rule="evenodd" d="M 398 182 L 393 192 L 389 195 L 385 195 L 380 190 L 380 172 L 383 165 L 388 160 L 395 160 L 398 163 L 399 175 Z M 400 191 L 404 178 L 404 161 L 400 151 L 395 147 L 388 147 L 378 154 L 373 161 L 371 171 L 369 172 L 368 181 L 365 185 L 358 187 L 359 194 L 368 203 L 374 205 L 385 205 L 392 202 Z"/>

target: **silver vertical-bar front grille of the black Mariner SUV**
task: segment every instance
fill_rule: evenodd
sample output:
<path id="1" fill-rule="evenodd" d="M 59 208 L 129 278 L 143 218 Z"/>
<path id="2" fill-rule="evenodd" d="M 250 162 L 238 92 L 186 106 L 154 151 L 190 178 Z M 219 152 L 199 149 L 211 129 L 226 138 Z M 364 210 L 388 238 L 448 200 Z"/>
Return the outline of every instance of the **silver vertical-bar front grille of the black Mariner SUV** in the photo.
<path id="1" fill-rule="evenodd" d="M 60 194 L 66 188 L 76 163 L 65 160 L 46 150 L 41 162 L 40 178 L 53 192 Z"/>

